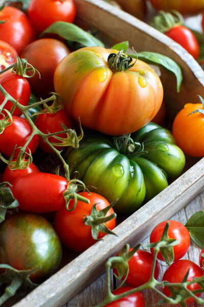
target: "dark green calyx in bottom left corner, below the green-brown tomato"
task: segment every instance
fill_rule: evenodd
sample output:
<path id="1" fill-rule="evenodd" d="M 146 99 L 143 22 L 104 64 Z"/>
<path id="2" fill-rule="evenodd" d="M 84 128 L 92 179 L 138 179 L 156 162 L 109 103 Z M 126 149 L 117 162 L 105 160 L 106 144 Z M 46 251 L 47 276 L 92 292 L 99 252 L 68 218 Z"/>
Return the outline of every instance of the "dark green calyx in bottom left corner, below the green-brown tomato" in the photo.
<path id="1" fill-rule="evenodd" d="M 23 295 L 28 290 L 35 289 L 38 284 L 30 280 L 29 276 L 34 273 L 38 268 L 31 270 L 16 270 L 10 265 L 0 264 L 1 269 L 6 269 L 4 273 L 0 275 L 1 284 L 7 284 L 5 292 L 0 296 L 0 305 L 2 305 L 7 299 L 14 296 L 17 291 Z"/>

